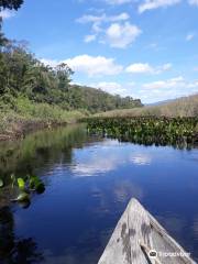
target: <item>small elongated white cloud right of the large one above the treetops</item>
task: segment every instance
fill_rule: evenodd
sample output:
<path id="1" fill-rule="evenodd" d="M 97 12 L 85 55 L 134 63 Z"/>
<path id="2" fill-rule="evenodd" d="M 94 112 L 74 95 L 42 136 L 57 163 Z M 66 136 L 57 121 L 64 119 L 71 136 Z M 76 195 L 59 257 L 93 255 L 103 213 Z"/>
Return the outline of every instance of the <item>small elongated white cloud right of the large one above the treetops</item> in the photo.
<path id="1" fill-rule="evenodd" d="M 161 74 L 163 72 L 169 70 L 172 64 L 169 63 L 158 67 L 153 67 L 147 63 L 136 63 L 128 66 L 125 72 L 130 74 Z"/>

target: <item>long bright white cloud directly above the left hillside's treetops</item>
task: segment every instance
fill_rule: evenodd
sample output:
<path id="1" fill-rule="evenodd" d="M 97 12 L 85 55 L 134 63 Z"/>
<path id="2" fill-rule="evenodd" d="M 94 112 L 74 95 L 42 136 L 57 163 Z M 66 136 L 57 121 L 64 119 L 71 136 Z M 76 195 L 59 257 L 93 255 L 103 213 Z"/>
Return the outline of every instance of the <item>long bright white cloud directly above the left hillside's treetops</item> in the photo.
<path id="1" fill-rule="evenodd" d="M 89 77 L 118 75 L 123 69 L 121 65 L 116 64 L 113 58 L 107 58 L 103 56 L 94 57 L 87 54 L 59 62 L 45 58 L 41 59 L 41 62 L 53 67 L 61 63 L 65 63 L 73 70 L 87 74 Z"/>

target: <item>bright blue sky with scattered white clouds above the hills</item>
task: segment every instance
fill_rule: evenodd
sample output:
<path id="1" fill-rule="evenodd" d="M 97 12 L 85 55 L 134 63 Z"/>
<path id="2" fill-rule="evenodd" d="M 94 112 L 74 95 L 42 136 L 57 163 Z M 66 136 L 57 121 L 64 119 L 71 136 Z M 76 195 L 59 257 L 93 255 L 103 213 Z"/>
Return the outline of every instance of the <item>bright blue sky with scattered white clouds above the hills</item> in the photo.
<path id="1" fill-rule="evenodd" d="M 198 92 L 198 0 L 24 0 L 4 10 L 9 38 L 73 82 L 143 103 Z"/>

